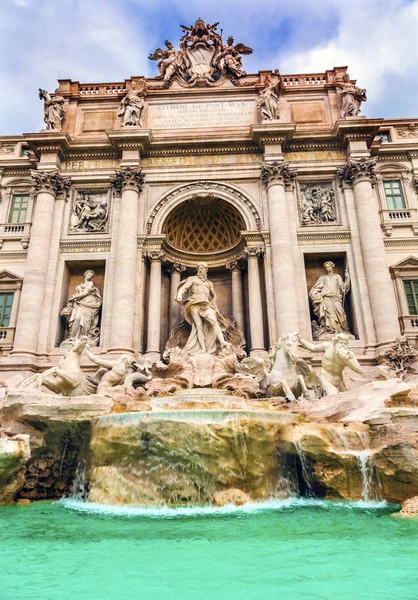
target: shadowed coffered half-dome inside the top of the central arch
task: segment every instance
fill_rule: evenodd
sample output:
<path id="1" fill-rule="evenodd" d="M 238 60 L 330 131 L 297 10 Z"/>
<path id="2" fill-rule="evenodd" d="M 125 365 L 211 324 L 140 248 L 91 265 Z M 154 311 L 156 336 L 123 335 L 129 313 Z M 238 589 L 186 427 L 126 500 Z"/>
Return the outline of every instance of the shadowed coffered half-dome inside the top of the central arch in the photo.
<path id="1" fill-rule="evenodd" d="M 213 194 L 199 195 L 179 204 L 168 215 L 162 233 L 184 253 L 226 252 L 241 242 L 243 217 L 229 202 Z"/>

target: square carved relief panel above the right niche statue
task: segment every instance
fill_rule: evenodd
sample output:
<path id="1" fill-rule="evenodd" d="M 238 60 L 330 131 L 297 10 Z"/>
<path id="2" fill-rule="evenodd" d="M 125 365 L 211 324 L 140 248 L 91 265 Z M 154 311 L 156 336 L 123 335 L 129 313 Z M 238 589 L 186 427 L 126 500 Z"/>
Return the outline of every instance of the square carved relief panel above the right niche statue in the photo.
<path id="1" fill-rule="evenodd" d="M 302 227 L 339 225 L 339 207 L 332 182 L 301 181 L 298 212 Z"/>

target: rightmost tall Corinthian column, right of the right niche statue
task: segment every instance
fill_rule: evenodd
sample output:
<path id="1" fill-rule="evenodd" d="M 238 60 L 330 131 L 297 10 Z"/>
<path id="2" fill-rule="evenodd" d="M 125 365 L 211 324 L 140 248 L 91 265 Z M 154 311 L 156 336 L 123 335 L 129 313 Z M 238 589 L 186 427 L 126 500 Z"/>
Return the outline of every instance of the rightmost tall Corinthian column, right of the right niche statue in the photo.
<path id="1" fill-rule="evenodd" d="M 375 160 L 349 161 L 339 177 L 353 185 L 360 243 L 377 341 L 384 344 L 399 335 L 398 307 L 380 228 L 379 207 L 373 190 Z"/>

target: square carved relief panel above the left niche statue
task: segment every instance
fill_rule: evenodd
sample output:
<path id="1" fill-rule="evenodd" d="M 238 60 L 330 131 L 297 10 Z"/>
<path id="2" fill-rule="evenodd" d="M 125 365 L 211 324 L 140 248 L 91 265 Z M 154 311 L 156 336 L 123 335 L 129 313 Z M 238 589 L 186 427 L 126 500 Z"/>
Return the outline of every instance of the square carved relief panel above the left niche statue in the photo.
<path id="1" fill-rule="evenodd" d="M 71 199 L 68 233 L 108 233 L 110 193 L 86 187 L 74 189 Z"/>

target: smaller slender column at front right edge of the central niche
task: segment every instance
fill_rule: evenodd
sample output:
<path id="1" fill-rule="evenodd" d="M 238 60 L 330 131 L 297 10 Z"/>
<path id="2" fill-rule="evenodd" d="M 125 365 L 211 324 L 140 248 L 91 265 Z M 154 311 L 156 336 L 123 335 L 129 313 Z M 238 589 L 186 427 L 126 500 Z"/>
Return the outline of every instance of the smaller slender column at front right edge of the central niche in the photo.
<path id="1" fill-rule="evenodd" d="M 249 246 L 244 250 L 248 262 L 248 305 L 250 313 L 251 356 L 265 354 L 263 305 L 261 302 L 260 272 L 258 257 L 262 248 Z"/>

